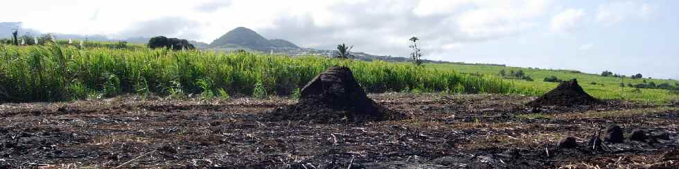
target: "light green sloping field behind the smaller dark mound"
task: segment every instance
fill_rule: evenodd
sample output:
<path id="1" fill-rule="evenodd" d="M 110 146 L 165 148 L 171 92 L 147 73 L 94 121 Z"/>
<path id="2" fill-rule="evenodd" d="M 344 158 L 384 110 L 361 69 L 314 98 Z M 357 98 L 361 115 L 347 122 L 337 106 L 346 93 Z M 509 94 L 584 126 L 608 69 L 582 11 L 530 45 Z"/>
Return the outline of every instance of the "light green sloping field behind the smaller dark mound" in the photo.
<path id="1" fill-rule="evenodd" d="M 507 66 L 483 66 L 483 65 L 461 65 L 461 64 L 427 64 L 425 65 L 429 68 L 436 68 L 439 70 L 455 70 L 457 72 L 463 72 L 467 74 L 486 74 L 491 76 L 500 77 L 500 70 L 505 70 L 508 74 L 510 70 L 518 71 L 522 70 L 529 77 L 532 77 L 534 81 L 525 81 L 521 79 L 506 79 L 511 81 L 516 87 L 523 88 L 526 94 L 529 95 L 541 95 L 552 88 L 556 88 L 558 83 L 554 82 L 544 82 L 545 77 L 558 77 L 558 79 L 578 79 L 578 83 L 583 87 L 583 89 L 590 93 L 590 95 L 600 98 L 600 99 L 630 99 L 635 101 L 646 101 L 649 103 L 666 103 L 669 101 L 676 101 L 679 99 L 679 94 L 671 90 L 661 90 L 661 89 L 646 89 L 642 88 L 635 91 L 637 88 L 629 88 L 625 86 L 620 87 L 620 83 L 624 80 L 624 83 L 643 83 L 653 81 L 656 84 L 669 83 L 675 86 L 679 81 L 667 80 L 667 79 L 630 79 L 626 77 L 621 79 L 619 77 L 601 77 L 599 74 L 585 74 L 581 72 L 576 72 L 572 70 L 544 70 L 544 69 L 529 69 L 529 68 L 516 68 Z M 602 70 L 603 71 L 603 70 Z M 592 84 L 592 82 L 597 84 Z"/>

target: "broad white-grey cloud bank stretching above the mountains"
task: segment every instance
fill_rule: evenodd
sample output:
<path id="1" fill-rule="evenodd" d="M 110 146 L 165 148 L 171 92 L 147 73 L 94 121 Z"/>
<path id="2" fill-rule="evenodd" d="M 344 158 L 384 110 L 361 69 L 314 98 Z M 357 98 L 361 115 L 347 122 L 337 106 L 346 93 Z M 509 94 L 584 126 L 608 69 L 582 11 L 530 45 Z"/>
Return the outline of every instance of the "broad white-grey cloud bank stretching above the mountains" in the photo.
<path id="1" fill-rule="evenodd" d="M 344 41 L 356 51 L 403 55 L 412 36 L 423 39 L 423 50 L 445 52 L 521 34 L 540 24 L 545 10 L 552 9 L 550 1 L 33 1 L 40 5 L 8 11 L 17 14 L 0 14 L 0 20 L 23 21 L 26 28 L 42 32 L 112 38 L 166 35 L 208 43 L 244 26 L 303 47 L 333 48 Z"/>

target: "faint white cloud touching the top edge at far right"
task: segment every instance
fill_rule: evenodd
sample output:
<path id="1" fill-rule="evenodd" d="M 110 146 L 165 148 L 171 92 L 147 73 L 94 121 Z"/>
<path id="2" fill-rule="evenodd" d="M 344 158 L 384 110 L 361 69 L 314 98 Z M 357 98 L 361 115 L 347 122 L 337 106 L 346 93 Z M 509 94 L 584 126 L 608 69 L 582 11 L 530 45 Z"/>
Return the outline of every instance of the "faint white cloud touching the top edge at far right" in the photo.
<path id="1" fill-rule="evenodd" d="M 615 1 L 599 6 L 597 21 L 612 26 L 626 20 L 648 21 L 653 19 L 658 6 L 636 1 Z"/>

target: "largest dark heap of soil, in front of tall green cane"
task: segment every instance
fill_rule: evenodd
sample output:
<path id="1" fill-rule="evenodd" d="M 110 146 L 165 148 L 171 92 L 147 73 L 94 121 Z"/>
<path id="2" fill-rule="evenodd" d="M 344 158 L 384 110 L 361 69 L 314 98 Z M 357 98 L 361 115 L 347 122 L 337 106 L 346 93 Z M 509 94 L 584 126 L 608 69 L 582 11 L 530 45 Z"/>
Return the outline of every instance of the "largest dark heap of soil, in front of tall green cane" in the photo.
<path id="1" fill-rule="evenodd" d="M 266 112 L 268 121 L 310 121 L 311 123 L 398 120 L 403 114 L 369 99 L 344 66 L 333 66 L 312 79 L 300 91 L 299 101 Z"/>

